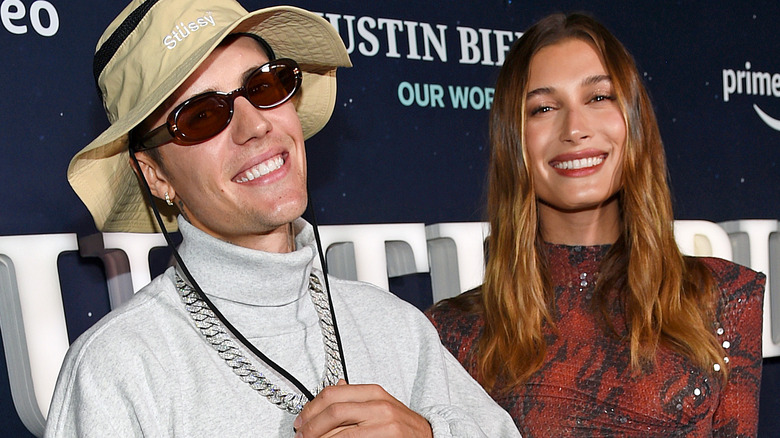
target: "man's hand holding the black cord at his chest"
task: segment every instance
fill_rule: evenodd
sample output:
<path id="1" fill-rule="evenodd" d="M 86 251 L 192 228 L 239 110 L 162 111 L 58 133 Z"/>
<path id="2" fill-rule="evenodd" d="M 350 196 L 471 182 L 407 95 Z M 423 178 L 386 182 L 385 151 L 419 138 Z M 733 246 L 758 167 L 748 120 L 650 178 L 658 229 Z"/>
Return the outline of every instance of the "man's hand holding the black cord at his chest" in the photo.
<path id="1" fill-rule="evenodd" d="M 307 403 L 294 426 L 295 438 L 433 437 L 425 418 L 381 386 L 343 380 Z"/>

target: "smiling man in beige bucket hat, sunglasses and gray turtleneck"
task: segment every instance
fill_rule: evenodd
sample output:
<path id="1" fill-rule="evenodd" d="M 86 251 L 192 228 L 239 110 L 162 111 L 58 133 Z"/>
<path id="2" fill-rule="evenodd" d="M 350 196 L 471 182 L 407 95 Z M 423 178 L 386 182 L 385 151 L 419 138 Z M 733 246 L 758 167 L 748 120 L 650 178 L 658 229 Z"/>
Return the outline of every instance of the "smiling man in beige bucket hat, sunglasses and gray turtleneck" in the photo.
<path id="1" fill-rule="evenodd" d="M 69 180 L 103 231 L 157 228 L 148 184 L 183 242 L 71 346 L 46 436 L 519 436 L 420 312 L 312 268 L 304 138 L 349 65 L 292 7 L 135 0 L 109 26 L 112 125 Z"/>

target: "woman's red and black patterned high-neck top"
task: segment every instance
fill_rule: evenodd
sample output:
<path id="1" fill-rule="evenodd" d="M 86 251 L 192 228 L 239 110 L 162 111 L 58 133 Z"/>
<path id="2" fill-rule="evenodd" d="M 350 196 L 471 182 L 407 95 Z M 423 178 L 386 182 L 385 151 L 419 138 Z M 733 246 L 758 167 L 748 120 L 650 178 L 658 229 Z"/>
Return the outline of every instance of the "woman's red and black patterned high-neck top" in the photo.
<path id="1" fill-rule="evenodd" d="M 528 382 L 509 394 L 492 394 L 523 436 L 756 435 L 763 274 L 721 259 L 701 259 L 722 294 L 713 330 L 728 355 L 730 375 L 723 387 L 664 346 L 652 370 L 633 375 L 628 343 L 606 335 L 591 310 L 599 264 L 609 246 L 547 248 L 559 335 L 545 330 L 547 354 Z M 611 311 L 616 329 L 625 332 L 618 307 Z M 475 374 L 470 353 L 482 334 L 481 315 L 443 302 L 428 316 L 443 344 Z"/>

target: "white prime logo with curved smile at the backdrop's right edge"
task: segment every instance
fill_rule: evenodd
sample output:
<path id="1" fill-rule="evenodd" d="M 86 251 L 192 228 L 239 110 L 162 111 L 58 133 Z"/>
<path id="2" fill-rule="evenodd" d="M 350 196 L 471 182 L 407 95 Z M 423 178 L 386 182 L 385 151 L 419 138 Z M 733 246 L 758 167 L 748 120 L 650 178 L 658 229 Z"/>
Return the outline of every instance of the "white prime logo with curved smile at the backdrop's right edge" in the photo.
<path id="1" fill-rule="evenodd" d="M 723 101 L 728 102 L 734 94 L 780 97 L 780 73 L 750 71 L 750 62 L 745 63 L 745 70 L 723 69 Z M 780 120 L 771 117 L 756 104 L 753 104 L 753 109 L 770 128 L 780 131 Z"/>

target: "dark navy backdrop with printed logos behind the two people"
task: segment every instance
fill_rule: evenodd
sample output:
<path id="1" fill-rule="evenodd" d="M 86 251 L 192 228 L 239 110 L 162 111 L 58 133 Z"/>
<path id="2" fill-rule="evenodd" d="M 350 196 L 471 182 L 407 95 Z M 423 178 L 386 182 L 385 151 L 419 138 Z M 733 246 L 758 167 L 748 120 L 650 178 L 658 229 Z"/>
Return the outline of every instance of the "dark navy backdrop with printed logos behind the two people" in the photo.
<path id="1" fill-rule="evenodd" d="M 325 17 L 354 64 L 338 72 L 331 122 L 307 142 L 321 224 L 484 220 L 487 118 L 498 70 L 525 28 L 560 11 L 594 15 L 634 55 L 666 145 L 677 219 L 780 219 L 776 0 L 289 4 Z M 108 125 L 92 56 L 124 6 L 0 0 L 0 236 L 95 233 L 65 172 Z M 100 262 L 75 252 L 57 267 L 75 339 L 108 311 L 105 277 Z M 14 382 L 2 371 L 0 430 L 31 436 L 14 409 Z M 778 390 L 780 365 L 768 359 L 762 435 L 780 427 Z"/>

